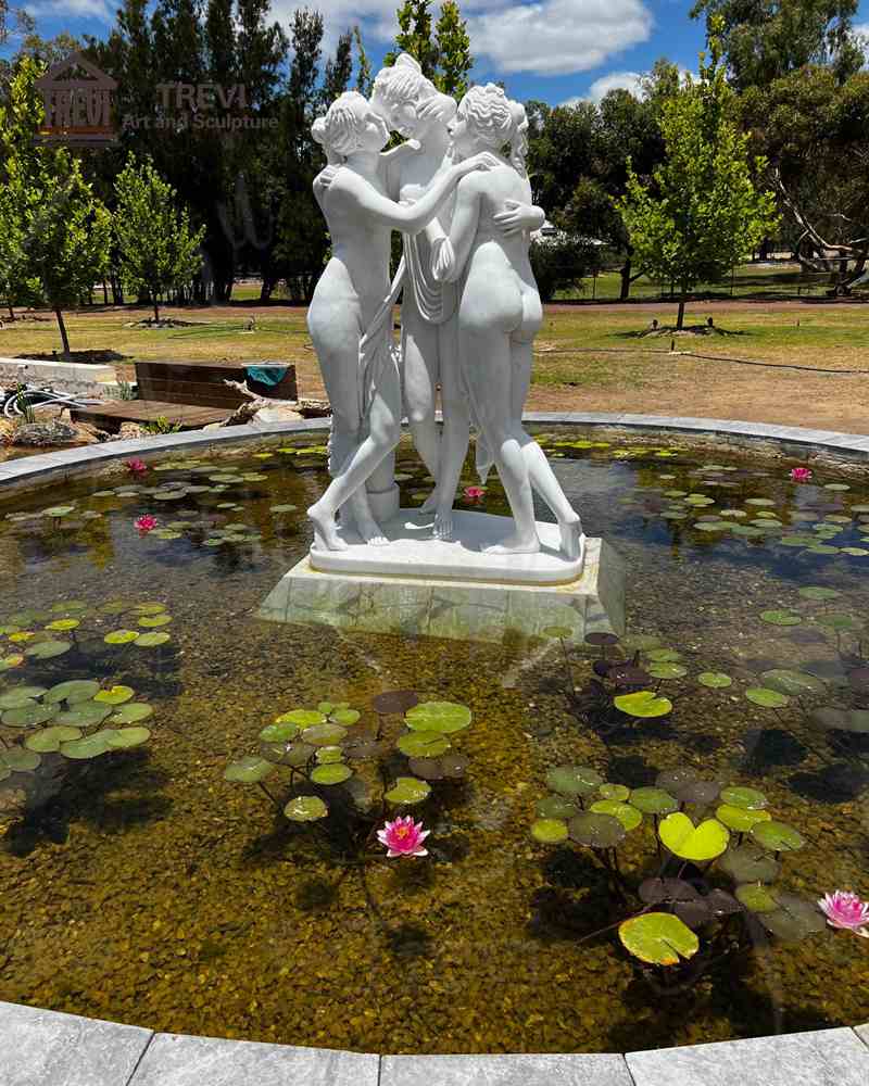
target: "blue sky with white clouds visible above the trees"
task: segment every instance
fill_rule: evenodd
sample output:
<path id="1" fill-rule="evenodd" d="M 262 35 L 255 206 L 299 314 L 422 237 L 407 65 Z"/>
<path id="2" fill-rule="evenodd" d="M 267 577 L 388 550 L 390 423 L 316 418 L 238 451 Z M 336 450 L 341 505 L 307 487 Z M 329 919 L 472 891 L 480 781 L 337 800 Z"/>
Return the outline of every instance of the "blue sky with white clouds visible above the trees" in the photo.
<path id="1" fill-rule="evenodd" d="M 12 0 L 26 7 L 45 37 L 61 30 L 105 37 L 114 0 Z M 374 63 L 394 34 L 396 0 L 307 0 L 325 16 L 327 45 L 358 22 Z M 297 0 L 273 0 L 285 26 Z M 462 0 L 468 18 L 477 81 L 503 79 L 514 98 L 556 105 L 601 98 L 613 86 L 635 83 L 658 56 L 695 72 L 703 24 L 689 18 L 691 0 Z M 869 0 L 857 20 L 869 34 Z M 9 52 L 8 46 L 4 52 Z"/>

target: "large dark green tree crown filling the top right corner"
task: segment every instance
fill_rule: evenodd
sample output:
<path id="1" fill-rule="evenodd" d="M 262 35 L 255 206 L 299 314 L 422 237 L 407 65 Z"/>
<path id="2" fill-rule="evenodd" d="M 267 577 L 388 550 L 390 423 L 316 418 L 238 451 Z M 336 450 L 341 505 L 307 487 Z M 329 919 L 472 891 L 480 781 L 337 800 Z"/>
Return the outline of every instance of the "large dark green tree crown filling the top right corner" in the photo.
<path id="1" fill-rule="evenodd" d="M 843 81 L 862 67 L 852 31 L 859 0 L 696 0 L 692 18 L 706 16 L 718 37 L 733 86 L 764 87 L 806 64 L 829 65 Z"/>

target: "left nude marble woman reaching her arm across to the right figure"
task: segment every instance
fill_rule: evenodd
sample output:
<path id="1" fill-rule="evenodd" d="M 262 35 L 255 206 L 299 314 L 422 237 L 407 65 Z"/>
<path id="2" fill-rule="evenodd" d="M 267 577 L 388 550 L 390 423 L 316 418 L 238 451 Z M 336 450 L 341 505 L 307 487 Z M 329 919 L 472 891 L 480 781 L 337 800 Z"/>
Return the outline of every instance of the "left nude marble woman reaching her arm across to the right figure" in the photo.
<path id="1" fill-rule="evenodd" d="M 336 478 L 307 514 L 314 523 L 314 546 L 341 551 L 347 543 L 338 535 L 335 517 L 351 498 L 363 539 L 385 541 L 367 507 L 364 485 L 398 444 L 401 429 L 401 379 L 391 320 L 398 289 L 390 292 L 390 232 L 420 230 L 462 177 L 496 161 L 490 154 L 467 157 L 443 173 L 416 204 L 405 207 L 386 194 L 380 151 L 389 131 L 362 94 L 341 94 L 317 134 L 331 154 L 344 156 L 344 163 L 328 191 L 319 194 L 332 257 L 314 291 L 307 327 L 336 413 L 332 440 L 348 449 Z M 339 463 L 336 450 L 332 455 Z M 355 494 L 360 496 L 354 498 Z"/>

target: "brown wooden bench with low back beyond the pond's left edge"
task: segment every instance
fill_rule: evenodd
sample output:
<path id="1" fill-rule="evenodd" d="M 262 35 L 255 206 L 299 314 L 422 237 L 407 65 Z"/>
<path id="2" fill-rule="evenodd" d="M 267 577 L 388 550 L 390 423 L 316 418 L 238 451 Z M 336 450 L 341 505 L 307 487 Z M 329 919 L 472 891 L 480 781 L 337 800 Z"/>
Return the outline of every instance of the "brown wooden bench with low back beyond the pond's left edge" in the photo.
<path id="1" fill-rule="evenodd" d="M 248 379 L 248 368 L 286 369 L 275 386 Z M 250 397 L 225 381 L 244 384 L 252 393 L 274 400 L 297 400 L 295 366 L 279 362 L 242 365 L 237 362 L 137 362 L 136 383 L 139 400 L 110 400 L 95 407 L 78 407 L 74 420 L 90 422 L 100 430 L 116 433 L 122 422 L 139 425 L 159 418 L 181 430 L 199 430 L 211 422 L 223 422 Z"/>

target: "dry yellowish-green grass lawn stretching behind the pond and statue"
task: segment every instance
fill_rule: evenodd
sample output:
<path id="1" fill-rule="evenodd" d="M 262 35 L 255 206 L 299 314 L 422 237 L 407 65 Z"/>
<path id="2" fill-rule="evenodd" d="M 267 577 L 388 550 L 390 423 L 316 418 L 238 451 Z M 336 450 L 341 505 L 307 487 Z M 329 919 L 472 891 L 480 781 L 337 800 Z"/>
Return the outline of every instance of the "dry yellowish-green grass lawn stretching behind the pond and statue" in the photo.
<path id="1" fill-rule="evenodd" d="M 255 295 L 256 288 L 249 291 Z M 248 301 L 164 313 L 191 325 L 127 327 L 150 315 L 147 306 L 70 313 L 71 345 L 74 352 L 114 352 L 127 380 L 137 358 L 293 362 L 302 394 L 323 395 L 304 308 Z M 0 355 L 60 351 L 53 317 L 37 316 L 0 329 Z M 675 321 L 672 303 L 547 306 L 529 407 L 742 418 L 869 433 L 869 304 L 728 300 L 688 306 L 688 325 L 704 325 L 707 317 L 718 332 L 676 337 L 671 354 L 669 332 L 643 333 L 655 318 L 659 325 Z M 251 318 L 255 327 L 248 330 Z"/>

